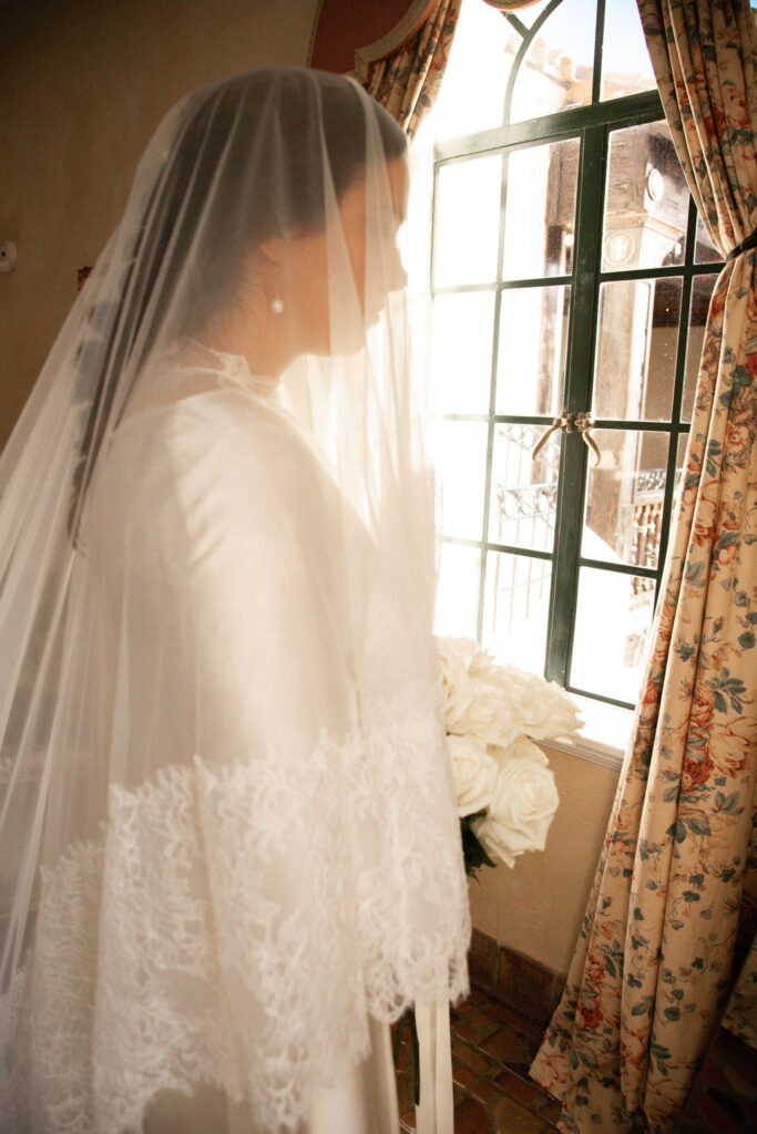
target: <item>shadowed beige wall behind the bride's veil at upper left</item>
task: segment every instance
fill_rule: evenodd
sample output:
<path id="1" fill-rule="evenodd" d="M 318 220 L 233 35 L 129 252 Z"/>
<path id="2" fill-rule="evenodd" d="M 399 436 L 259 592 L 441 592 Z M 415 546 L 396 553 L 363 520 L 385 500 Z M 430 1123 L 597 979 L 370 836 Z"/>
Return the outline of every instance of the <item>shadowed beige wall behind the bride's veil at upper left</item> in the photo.
<path id="1" fill-rule="evenodd" d="M 308 61 L 318 0 L 0 5 L 0 447 L 126 202 L 138 156 L 195 86 Z"/>

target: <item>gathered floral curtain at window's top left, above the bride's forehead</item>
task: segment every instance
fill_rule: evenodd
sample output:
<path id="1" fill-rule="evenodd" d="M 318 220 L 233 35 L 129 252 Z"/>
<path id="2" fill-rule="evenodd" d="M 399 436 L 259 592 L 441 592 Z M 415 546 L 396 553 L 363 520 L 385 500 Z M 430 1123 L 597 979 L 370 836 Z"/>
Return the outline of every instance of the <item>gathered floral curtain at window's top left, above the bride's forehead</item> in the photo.
<path id="1" fill-rule="evenodd" d="M 395 54 L 368 69 L 365 90 L 412 138 L 434 105 L 462 0 L 436 0 L 426 22 Z"/>

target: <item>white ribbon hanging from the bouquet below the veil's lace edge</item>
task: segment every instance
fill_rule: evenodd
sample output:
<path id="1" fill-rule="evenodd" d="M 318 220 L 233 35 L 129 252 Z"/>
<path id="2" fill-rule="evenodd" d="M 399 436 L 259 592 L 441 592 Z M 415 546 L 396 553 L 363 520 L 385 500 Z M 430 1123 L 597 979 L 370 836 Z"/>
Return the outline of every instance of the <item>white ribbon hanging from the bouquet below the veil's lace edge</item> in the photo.
<path id="1" fill-rule="evenodd" d="M 421 1097 L 415 1107 L 417 1134 L 454 1134 L 449 1001 L 415 1002 Z"/>

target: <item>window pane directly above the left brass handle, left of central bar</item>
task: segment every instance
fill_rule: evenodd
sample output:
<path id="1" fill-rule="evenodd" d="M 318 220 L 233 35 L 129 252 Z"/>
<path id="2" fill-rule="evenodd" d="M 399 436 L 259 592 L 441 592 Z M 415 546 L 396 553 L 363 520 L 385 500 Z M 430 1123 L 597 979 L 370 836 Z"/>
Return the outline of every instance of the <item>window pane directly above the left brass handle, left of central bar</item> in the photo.
<path id="1" fill-rule="evenodd" d="M 570 293 L 570 287 L 558 285 L 502 293 L 497 413 L 524 417 L 560 413 Z"/>

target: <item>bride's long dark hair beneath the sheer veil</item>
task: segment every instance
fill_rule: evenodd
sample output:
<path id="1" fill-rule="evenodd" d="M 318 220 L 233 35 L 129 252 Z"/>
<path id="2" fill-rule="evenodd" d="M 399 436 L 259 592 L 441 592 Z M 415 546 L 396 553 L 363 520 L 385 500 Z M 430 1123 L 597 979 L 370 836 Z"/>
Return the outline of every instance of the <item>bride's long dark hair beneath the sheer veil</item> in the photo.
<path id="1" fill-rule="evenodd" d="M 119 298 L 108 311 L 93 312 L 94 323 L 104 327 L 100 335 L 93 327 L 79 359 L 89 373 L 94 365 L 99 378 L 74 476 L 73 535 L 118 376 L 127 364 L 133 376 L 138 372 L 176 281 L 182 280 L 182 311 L 171 329 L 180 338 L 196 333 L 229 302 L 253 248 L 275 236 L 323 227 L 328 181 L 338 202 L 365 168 L 370 129 L 375 136 L 378 130 L 386 161 L 405 153 L 397 122 L 351 81 L 325 71 L 253 69 L 187 98 L 170 155 L 145 201 Z M 219 170 L 224 184 L 235 186 L 237 206 L 216 202 L 209 217 Z"/>

